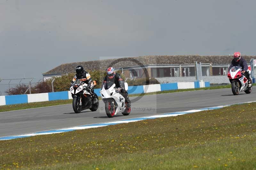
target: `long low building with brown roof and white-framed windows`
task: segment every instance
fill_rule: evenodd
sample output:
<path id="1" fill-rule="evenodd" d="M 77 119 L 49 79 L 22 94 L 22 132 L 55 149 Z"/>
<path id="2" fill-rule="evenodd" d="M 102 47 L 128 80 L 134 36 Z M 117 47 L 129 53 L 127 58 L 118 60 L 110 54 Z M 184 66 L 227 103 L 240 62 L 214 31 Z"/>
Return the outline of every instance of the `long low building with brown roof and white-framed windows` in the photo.
<path id="1" fill-rule="evenodd" d="M 250 64 L 255 56 L 243 56 Z M 77 65 L 82 65 L 86 70 L 105 70 L 113 66 L 122 71 L 126 78 L 145 77 L 193 77 L 195 76 L 195 61 L 202 63 L 203 76 L 227 75 L 232 56 L 143 56 L 126 57 L 120 59 L 107 59 L 86 62 L 61 64 L 52 70 L 43 73 L 44 80 L 56 76 L 74 73 Z"/>

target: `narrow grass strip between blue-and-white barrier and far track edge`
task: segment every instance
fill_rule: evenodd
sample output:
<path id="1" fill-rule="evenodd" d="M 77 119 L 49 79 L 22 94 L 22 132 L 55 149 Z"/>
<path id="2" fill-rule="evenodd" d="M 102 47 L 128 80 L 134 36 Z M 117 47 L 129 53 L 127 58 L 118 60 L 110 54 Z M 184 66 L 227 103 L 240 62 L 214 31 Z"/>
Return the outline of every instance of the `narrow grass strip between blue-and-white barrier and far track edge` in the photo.
<path id="1" fill-rule="evenodd" d="M 256 84 L 253 84 L 253 85 L 256 85 Z M 183 91 L 194 91 L 194 90 L 224 89 L 224 88 L 231 88 L 231 85 L 205 87 L 205 88 L 197 88 L 197 89 L 166 90 L 166 91 L 158 91 L 158 92 L 142 93 L 142 94 L 130 94 L 129 97 L 164 94 L 164 93 L 174 93 L 174 92 L 183 92 Z M 99 97 L 99 99 L 101 100 L 101 97 Z M 45 106 L 54 106 L 54 105 L 60 105 L 60 104 L 71 104 L 71 103 L 72 103 L 72 100 L 55 100 L 55 101 L 46 101 L 46 102 L 4 105 L 4 106 L 0 106 L 0 112 L 38 108 L 38 107 L 45 107 Z"/>

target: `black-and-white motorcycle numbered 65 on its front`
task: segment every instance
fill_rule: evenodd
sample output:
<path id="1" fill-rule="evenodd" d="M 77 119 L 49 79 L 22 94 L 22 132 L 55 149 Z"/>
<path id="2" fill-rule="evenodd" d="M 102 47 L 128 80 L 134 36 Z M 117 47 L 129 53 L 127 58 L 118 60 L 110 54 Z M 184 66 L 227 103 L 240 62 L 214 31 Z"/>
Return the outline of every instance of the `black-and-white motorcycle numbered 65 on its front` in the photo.
<path id="1" fill-rule="evenodd" d="M 93 81 L 96 85 L 96 81 Z M 93 87 L 91 86 L 91 89 Z M 87 84 L 76 79 L 72 86 L 69 88 L 73 97 L 73 110 L 75 113 L 80 113 L 82 110 L 90 109 L 92 112 L 96 111 L 99 107 L 99 98 L 94 93 L 93 97 L 90 93 Z"/>

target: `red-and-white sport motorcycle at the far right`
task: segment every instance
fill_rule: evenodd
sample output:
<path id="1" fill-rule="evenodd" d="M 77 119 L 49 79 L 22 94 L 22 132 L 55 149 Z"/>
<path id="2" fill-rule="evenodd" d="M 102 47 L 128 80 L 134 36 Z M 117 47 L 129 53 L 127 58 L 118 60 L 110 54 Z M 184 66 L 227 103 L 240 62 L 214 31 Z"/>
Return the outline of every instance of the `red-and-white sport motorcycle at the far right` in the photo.
<path id="1" fill-rule="evenodd" d="M 238 95 L 241 91 L 247 94 L 252 92 L 251 78 L 247 79 L 241 71 L 242 67 L 234 66 L 228 72 L 228 79 L 231 83 L 231 89 L 234 95 Z M 251 66 L 248 66 L 247 71 L 249 74 L 251 73 Z"/>

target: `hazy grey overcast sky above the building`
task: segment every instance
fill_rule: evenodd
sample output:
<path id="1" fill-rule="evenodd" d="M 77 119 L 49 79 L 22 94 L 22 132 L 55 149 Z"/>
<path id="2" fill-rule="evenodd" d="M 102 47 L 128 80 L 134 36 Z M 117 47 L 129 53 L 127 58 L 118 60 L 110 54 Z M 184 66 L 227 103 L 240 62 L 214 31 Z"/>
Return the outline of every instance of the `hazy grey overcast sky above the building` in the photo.
<path id="1" fill-rule="evenodd" d="M 255 55 L 255 6 L 254 0 L 0 0 L 0 78 L 38 81 L 60 64 L 121 56 Z"/>

